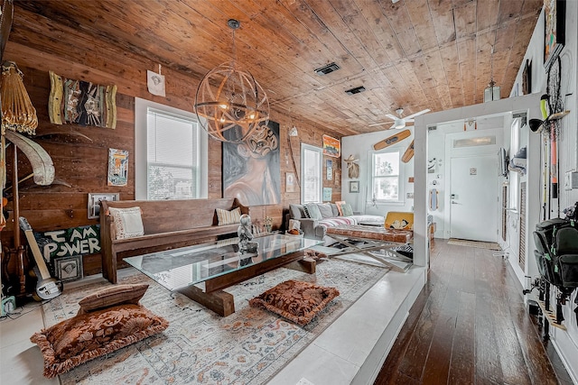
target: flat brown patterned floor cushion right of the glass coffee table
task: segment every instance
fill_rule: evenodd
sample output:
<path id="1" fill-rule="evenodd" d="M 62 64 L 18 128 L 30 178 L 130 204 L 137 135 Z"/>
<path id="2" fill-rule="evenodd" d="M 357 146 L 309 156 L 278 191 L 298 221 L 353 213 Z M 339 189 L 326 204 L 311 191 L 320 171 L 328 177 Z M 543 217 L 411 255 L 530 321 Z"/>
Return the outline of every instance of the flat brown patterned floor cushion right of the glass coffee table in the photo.
<path id="1" fill-rule="evenodd" d="M 296 324 L 307 325 L 339 295 L 339 290 L 335 288 L 299 280 L 286 280 L 251 299 L 249 305 L 264 307 Z"/>

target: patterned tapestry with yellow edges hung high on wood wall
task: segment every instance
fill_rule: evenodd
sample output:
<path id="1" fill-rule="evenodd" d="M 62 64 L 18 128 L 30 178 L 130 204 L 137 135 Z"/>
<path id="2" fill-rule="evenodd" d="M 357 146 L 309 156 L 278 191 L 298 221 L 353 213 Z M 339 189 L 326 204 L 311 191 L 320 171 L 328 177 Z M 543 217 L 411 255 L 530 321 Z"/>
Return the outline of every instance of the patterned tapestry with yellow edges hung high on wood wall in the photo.
<path id="1" fill-rule="evenodd" d="M 117 128 L 117 86 L 99 86 L 62 78 L 49 71 L 51 124 L 80 124 Z"/>

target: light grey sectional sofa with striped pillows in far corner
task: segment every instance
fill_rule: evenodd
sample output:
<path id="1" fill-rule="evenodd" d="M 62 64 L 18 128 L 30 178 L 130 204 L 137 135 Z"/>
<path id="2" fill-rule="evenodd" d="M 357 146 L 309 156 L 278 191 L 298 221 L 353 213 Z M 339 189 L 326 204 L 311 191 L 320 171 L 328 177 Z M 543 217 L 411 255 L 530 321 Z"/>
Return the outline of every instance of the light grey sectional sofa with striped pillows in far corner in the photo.
<path id="1" fill-rule="evenodd" d="M 310 239 L 327 241 L 327 228 L 338 225 L 384 225 L 382 215 L 361 215 L 350 210 L 347 204 L 309 203 L 305 205 L 289 205 L 287 221 L 294 219 L 300 222 L 303 236 Z M 314 210 L 314 207 L 317 210 Z M 313 209 L 312 209 L 313 208 Z M 312 212 L 313 211 L 313 212 Z"/>

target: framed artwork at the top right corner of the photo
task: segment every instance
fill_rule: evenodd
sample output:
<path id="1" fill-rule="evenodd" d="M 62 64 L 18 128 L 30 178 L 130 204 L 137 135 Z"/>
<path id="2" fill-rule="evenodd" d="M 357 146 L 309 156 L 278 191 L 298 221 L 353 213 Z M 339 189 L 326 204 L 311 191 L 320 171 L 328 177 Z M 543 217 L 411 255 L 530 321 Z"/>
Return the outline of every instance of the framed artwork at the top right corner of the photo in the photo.
<path id="1" fill-rule="evenodd" d="M 544 0 L 544 68 L 549 69 L 564 48 L 566 3 L 564 0 Z"/>

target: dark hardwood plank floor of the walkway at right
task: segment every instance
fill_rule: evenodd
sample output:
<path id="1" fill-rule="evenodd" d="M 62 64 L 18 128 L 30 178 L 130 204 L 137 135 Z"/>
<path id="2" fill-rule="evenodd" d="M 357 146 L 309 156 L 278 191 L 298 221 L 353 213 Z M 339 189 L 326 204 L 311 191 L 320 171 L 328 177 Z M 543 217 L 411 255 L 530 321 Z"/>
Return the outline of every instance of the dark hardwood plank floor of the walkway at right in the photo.
<path id="1" fill-rule="evenodd" d="M 572 384 L 493 253 L 434 241 L 429 280 L 375 385 Z"/>

